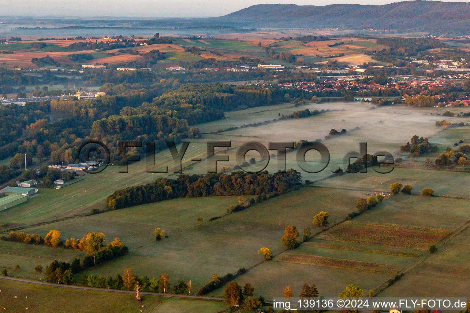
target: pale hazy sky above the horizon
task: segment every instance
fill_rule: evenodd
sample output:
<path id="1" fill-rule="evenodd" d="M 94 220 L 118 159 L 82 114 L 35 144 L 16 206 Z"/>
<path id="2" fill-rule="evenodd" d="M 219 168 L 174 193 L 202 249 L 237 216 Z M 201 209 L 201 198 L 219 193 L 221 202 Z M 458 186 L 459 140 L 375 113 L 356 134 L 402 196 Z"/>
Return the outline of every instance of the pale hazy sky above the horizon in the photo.
<path id="1" fill-rule="evenodd" d="M 452 0 L 451 0 L 452 1 Z M 397 0 L 3 0 L 0 16 L 220 16 L 254 4 L 386 4 Z M 447 1 L 450 2 L 450 1 Z"/>

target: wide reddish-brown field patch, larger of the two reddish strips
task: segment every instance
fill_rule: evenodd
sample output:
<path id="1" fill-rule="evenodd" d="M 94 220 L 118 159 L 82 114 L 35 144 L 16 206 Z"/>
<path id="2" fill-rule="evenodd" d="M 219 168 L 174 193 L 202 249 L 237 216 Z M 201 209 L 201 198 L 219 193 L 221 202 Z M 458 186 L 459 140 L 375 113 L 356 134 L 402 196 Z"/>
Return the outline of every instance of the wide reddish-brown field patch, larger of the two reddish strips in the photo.
<path id="1" fill-rule="evenodd" d="M 450 232 L 450 229 L 346 221 L 319 237 L 325 240 L 427 250 Z"/>

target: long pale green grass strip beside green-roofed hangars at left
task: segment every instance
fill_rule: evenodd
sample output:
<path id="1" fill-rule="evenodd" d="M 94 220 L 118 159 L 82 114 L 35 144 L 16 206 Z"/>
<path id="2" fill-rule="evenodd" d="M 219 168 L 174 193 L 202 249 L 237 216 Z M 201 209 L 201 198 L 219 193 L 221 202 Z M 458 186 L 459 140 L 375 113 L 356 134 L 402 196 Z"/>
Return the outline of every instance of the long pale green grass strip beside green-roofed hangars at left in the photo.
<path id="1" fill-rule="evenodd" d="M 193 163 L 192 156 L 205 156 L 205 142 L 191 144 L 185 154 L 183 166 Z M 188 159 L 186 159 L 188 156 Z M 171 161 L 170 161 L 171 160 Z M 27 202 L 0 212 L 0 225 L 3 231 L 26 227 L 27 225 L 55 221 L 77 214 L 87 214 L 93 208 L 104 209 L 105 199 L 113 191 L 131 185 L 150 183 L 158 176 L 176 178 L 172 174 L 172 157 L 168 150 L 156 154 L 157 165 L 150 158 L 129 165 L 129 173 L 119 173 L 125 167 L 109 166 L 99 174 L 78 176 L 83 180 L 63 189 L 39 188 L 39 195 L 28 198 Z M 171 163 L 169 163 L 171 162 Z M 169 166 L 169 174 L 147 173 L 150 170 Z M 197 173 L 204 173 L 205 168 L 195 168 Z M 78 200 L 79 199 L 79 200 Z"/>

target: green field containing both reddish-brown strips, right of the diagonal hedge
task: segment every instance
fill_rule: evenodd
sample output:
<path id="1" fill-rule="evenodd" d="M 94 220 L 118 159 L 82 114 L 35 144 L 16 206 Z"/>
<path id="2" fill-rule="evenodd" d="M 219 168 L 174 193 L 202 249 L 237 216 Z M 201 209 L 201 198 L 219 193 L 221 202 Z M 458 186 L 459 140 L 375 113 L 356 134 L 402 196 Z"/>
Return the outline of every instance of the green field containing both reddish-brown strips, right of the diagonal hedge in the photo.
<path id="1" fill-rule="evenodd" d="M 237 280 L 260 283 L 259 292 L 268 296 L 282 292 L 279 282 L 290 285 L 294 292 L 304 282 L 314 282 L 321 295 L 325 292 L 329 296 L 341 291 L 342 284 L 354 283 L 365 290 L 371 289 L 413 264 L 430 244 L 468 221 L 468 203 L 467 199 L 403 195 L 386 199 L 373 210 L 320 233 L 295 250 L 279 254 Z M 459 241 L 462 243 L 463 238 Z M 454 252 L 453 258 L 457 264 L 457 253 Z M 445 258 L 439 260 L 444 267 Z M 440 268 L 433 266 L 436 271 Z M 463 268 L 466 267 L 457 266 L 455 271 L 462 273 Z M 331 271 L 341 272 L 334 280 L 324 281 L 322 275 Z M 214 294 L 220 294 L 221 290 Z"/>

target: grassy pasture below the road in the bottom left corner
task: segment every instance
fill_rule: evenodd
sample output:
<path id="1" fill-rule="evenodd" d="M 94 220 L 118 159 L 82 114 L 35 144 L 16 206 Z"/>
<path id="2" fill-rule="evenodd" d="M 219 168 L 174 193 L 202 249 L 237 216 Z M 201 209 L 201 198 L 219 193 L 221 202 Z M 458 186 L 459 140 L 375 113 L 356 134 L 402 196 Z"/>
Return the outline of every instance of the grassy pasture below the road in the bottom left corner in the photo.
<path id="1" fill-rule="evenodd" d="M 131 294 L 70 290 L 5 280 L 2 280 L 0 284 L 1 307 L 6 308 L 5 312 L 15 313 L 131 313 L 139 312 L 141 305 L 145 305 L 145 312 L 161 312 L 157 311 L 158 305 L 166 299 L 155 296 L 143 296 L 143 300 L 135 301 L 134 296 Z M 27 311 L 26 308 L 28 308 Z"/>

